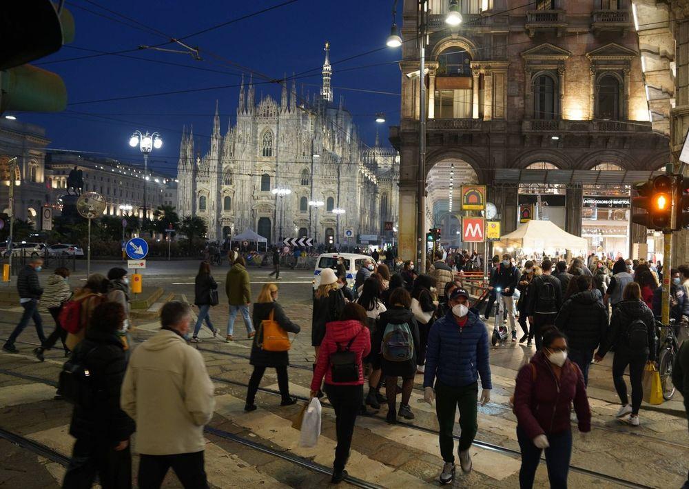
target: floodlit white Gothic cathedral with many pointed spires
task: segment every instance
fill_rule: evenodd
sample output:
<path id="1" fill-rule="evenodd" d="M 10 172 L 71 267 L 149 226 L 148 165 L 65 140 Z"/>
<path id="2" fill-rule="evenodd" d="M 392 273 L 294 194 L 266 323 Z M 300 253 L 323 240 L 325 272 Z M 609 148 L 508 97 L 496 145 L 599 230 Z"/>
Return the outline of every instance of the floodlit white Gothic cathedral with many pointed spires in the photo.
<path id="1" fill-rule="evenodd" d="M 347 243 L 347 230 L 384 236 L 384 223 L 397 221 L 397 152 L 378 140 L 365 146 L 342 98 L 333 102 L 327 44 L 322 74 L 320 94 L 300 97 L 294 81 L 283 81 L 279 102 L 270 95 L 256 100 L 254 83 L 243 81 L 235 123 L 221 134 L 216 107 L 203 152 L 185 132 L 178 213 L 203 217 L 214 241 L 247 228 L 269 243 L 294 237 Z M 290 193 L 278 197 L 273 190 Z"/>

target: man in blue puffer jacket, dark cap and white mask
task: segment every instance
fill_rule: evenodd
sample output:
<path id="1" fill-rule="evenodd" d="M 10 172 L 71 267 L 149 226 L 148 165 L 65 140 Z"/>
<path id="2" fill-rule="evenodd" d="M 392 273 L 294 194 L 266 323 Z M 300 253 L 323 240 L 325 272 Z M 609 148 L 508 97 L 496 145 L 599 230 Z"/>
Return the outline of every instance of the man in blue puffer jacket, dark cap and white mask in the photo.
<path id="1" fill-rule="evenodd" d="M 492 388 L 486 326 L 469 311 L 466 290 L 453 290 L 449 306 L 449 312 L 431 326 L 424 373 L 424 399 L 432 404 L 438 396 L 435 412 L 440 426 L 440 454 L 444 461 L 440 474 L 442 484 L 449 484 L 455 478 L 452 430 L 457 406 L 462 428 L 457 454 L 462 471 L 471 472 L 469 448 L 478 428 L 476 397 L 479 375 L 482 405 L 491 400 Z"/>

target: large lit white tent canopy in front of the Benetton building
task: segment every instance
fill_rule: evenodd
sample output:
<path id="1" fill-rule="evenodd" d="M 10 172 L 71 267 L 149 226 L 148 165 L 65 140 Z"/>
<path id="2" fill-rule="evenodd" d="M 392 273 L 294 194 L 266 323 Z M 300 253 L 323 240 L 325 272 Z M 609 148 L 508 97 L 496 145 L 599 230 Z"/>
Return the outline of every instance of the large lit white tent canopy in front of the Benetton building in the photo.
<path id="1" fill-rule="evenodd" d="M 522 250 L 573 250 L 586 252 L 588 241 L 569 234 L 551 221 L 526 221 L 519 228 L 495 241 L 494 246 Z M 547 251 L 546 251 L 547 252 Z"/>

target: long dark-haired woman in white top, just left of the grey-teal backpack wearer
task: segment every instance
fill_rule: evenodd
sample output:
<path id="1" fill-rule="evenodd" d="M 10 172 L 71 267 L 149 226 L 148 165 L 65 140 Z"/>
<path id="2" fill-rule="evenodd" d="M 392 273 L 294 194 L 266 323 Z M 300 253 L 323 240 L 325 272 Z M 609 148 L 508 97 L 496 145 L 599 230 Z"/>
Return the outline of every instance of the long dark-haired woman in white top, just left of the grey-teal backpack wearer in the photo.
<path id="1" fill-rule="evenodd" d="M 371 332 L 371 338 L 376 335 L 378 330 L 378 318 L 387 310 L 380 300 L 380 281 L 377 277 L 369 277 L 364 282 L 361 295 L 356 299 L 364 310 L 366 310 L 367 327 Z M 366 396 L 365 403 L 373 409 L 380 409 L 380 403 L 387 399 L 380 394 L 380 348 L 371 348 L 371 353 L 364 359 L 364 364 L 371 365 L 369 374 L 369 394 Z M 365 408 L 364 408 L 365 409 Z"/>

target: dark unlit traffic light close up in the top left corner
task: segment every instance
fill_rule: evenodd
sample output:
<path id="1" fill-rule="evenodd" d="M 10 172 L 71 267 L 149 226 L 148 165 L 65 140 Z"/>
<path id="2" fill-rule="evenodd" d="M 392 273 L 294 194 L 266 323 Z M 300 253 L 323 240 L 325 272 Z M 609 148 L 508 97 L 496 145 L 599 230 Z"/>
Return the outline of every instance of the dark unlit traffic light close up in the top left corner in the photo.
<path id="1" fill-rule="evenodd" d="M 25 63 L 72 42 L 72 14 L 66 8 L 58 14 L 50 0 L 5 2 L 0 25 L 0 113 L 64 110 L 67 88 L 59 75 Z"/>

